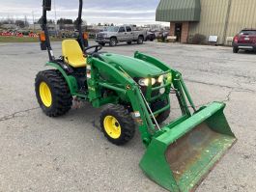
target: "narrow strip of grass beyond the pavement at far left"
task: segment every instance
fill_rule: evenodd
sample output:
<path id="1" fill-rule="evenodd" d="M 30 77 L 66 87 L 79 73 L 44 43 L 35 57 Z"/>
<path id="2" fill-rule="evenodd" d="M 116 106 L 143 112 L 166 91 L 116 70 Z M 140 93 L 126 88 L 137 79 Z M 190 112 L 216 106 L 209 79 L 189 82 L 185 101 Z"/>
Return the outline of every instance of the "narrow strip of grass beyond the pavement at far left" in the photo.
<path id="1" fill-rule="evenodd" d="M 63 41 L 63 39 L 51 38 L 51 41 Z M 29 38 L 29 37 L 3 37 L 0 36 L 0 42 L 39 42 L 39 38 Z"/>

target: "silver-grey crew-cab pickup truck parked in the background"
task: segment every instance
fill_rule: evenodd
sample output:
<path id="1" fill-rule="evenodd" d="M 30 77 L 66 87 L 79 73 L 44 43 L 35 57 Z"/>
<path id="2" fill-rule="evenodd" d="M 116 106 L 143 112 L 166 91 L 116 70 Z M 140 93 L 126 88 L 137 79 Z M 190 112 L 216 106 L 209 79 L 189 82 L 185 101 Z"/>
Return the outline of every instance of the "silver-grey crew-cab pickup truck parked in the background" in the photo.
<path id="1" fill-rule="evenodd" d="M 133 30 L 129 25 L 110 26 L 96 35 L 96 41 L 102 46 L 106 43 L 109 43 L 110 46 L 116 46 L 117 43 L 124 41 L 128 44 L 133 41 L 142 44 L 146 40 L 146 36 L 146 31 Z"/>

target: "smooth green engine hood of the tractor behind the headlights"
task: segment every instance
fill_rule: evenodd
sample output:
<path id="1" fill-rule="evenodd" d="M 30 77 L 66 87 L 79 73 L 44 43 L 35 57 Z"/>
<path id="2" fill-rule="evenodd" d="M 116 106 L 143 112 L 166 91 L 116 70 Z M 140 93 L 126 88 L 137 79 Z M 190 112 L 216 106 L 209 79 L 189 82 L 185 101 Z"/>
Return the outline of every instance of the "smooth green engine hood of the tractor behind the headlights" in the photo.
<path id="1" fill-rule="evenodd" d="M 112 65 L 116 69 L 121 67 L 124 69 L 130 77 L 148 77 L 156 76 L 159 73 L 163 72 L 162 69 L 158 69 L 156 66 L 139 60 L 133 57 L 127 57 L 118 54 L 105 53 L 101 54 L 100 57 L 104 60 L 104 62 Z"/>

